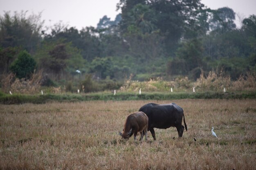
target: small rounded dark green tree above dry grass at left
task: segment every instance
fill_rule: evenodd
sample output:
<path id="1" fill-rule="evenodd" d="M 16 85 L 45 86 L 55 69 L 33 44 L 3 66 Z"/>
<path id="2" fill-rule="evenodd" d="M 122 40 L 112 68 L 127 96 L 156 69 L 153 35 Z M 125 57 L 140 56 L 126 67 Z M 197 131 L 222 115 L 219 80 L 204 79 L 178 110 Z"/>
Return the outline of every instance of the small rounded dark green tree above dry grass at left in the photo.
<path id="1" fill-rule="evenodd" d="M 11 63 L 10 69 L 18 78 L 30 78 L 36 68 L 36 61 L 26 51 L 20 52 L 18 58 Z"/>

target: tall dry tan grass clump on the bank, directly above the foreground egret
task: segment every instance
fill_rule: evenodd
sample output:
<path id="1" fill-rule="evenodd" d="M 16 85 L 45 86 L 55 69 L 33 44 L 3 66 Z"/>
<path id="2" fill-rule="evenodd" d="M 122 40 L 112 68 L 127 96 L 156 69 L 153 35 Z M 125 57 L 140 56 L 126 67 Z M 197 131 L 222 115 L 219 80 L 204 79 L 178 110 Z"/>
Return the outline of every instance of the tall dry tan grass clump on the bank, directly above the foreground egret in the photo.
<path id="1" fill-rule="evenodd" d="M 225 76 L 222 71 L 220 73 L 210 71 L 208 76 L 204 76 L 203 70 L 201 71 L 200 78 L 196 80 L 195 87 L 203 91 L 220 91 L 224 87 L 227 89 L 231 86 L 230 76 Z"/>

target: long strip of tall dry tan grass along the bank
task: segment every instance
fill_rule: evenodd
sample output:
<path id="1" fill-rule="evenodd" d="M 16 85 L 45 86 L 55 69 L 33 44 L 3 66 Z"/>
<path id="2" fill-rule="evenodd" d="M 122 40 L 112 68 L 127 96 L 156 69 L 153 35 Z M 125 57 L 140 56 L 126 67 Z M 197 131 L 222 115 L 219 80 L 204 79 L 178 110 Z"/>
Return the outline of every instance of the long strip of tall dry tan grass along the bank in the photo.
<path id="1" fill-rule="evenodd" d="M 2 91 L 8 93 L 15 92 L 18 94 L 38 94 L 41 89 L 47 93 L 63 94 L 68 91 L 69 86 L 59 87 L 41 87 L 40 79 L 42 72 L 33 74 L 29 80 L 16 79 L 13 74 L 2 76 Z M 108 83 L 106 81 L 105 83 Z M 85 83 L 86 84 L 86 83 Z M 80 91 L 83 92 L 86 85 L 81 87 Z M 115 83 L 114 83 L 115 84 Z M 104 86 L 105 87 L 105 86 Z M 106 84 L 107 90 L 109 86 Z M 111 85 L 111 87 L 120 87 L 119 85 Z M 195 87 L 196 92 L 223 92 L 225 88 L 227 92 L 255 92 L 256 91 L 256 74 L 247 72 L 246 75 L 241 75 L 236 81 L 231 81 L 230 76 L 225 75 L 223 72 L 211 71 L 208 74 L 202 73 L 197 81 L 191 81 L 188 77 L 177 77 L 173 81 L 166 81 L 161 77 L 151 78 L 149 81 L 135 81 L 132 80 L 132 75 L 124 81 L 123 85 L 116 89 L 119 92 L 192 92 Z M 80 87 L 79 87 L 80 88 Z M 103 89 L 103 88 L 101 88 Z M 94 92 L 93 88 L 91 89 Z M 112 89 L 114 90 L 114 89 Z M 84 92 L 90 92 L 85 90 Z"/>

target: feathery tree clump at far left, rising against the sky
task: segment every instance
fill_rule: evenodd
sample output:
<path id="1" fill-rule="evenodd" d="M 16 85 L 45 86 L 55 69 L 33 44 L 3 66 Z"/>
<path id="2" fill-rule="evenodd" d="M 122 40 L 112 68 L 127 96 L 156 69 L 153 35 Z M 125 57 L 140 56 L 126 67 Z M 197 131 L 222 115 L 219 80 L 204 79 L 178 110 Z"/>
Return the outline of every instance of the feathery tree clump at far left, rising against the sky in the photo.
<path id="1" fill-rule="evenodd" d="M 22 46 L 29 52 L 35 52 L 40 44 L 43 22 L 40 21 L 41 13 L 26 16 L 26 12 L 5 12 L 0 16 L 0 46 Z"/>

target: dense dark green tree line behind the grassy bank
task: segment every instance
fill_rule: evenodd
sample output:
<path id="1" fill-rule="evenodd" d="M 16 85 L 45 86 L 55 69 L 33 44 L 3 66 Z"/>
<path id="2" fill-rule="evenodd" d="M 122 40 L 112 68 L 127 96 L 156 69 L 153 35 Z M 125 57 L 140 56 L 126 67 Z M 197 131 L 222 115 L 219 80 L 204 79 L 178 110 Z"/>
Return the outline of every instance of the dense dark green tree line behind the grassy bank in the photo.
<path id="1" fill-rule="evenodd" d="M 43 78 L 51 82 L 45 85 L 80 89 L 90 84 L 88 77 L 98 86 L 111 82 L 106 85 L 109 89 L 119 87 L 117 81 L 130 74 L 140 81 L 159 76 L 196 80 L 202 69 L 206 73 L 222 70 L 236 80 L 256 71 L 255 15 L 237 28 L 232 9 L 211 10 L 200 0 L 120 0 L 117 8 L 121 13 L 115 20 L 105 15 L 97 28 L 81 30 L 62 23 L 46 29 L 40 13 L 4 13 L 0 16 L 0 74 L 25 77 L 13 66 L 22 50 L 29 52 L 38 70 L 43 70 Z M 96 87 L 91 86 L 87 92 Z"/>

